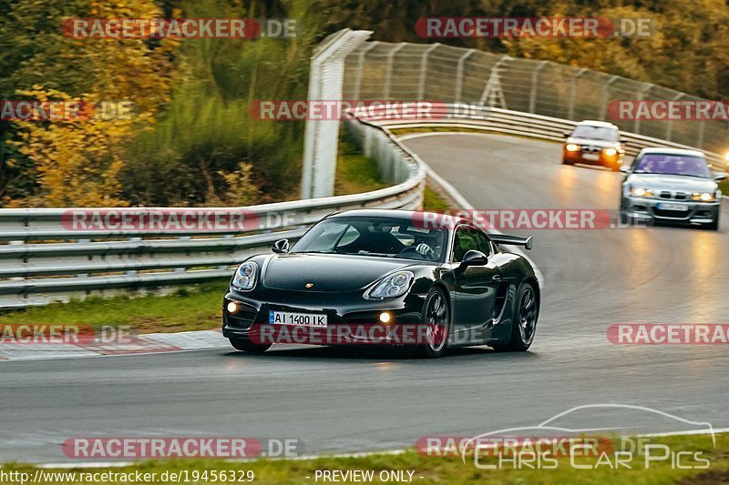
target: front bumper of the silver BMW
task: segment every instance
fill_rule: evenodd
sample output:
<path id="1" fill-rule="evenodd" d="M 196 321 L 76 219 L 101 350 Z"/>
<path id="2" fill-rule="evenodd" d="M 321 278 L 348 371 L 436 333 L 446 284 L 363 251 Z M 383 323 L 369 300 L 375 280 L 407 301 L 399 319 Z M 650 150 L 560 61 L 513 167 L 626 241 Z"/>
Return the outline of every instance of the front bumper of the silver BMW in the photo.
<path id="1" fill-rule="evenodd" d="M 683 210 L 662 208 L 662 204 L 684 207 Z M 711 224 L 719 217 L 721 202 L 663 200 L 661 198 L 623 197 L 623 209 L 635 221 L 673 224 Z"/>

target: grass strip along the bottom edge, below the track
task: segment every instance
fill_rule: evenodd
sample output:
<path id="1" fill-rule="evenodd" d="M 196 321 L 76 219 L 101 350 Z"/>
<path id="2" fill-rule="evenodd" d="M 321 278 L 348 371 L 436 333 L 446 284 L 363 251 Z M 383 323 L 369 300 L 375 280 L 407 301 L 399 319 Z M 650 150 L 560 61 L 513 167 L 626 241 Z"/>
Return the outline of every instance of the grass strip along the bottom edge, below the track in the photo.
<path id="1" fill-rule="evenodd" d="M 399 472 L 406 480 L 416 483 L 636 483 L 636 484 L 662 484 L 662 483 L 683 483 L 683 484 L 699 484 L 699 483 L 726 483 L 729 480 L 729 435 L 717 435 L 716 449 L 714 449 L 711 440 L 706 436 L 682 436 L 667 437 L 661 439 L 651 439 L 651 444 L 667 445 L 667 454 L 662 460 L 649 460 L 648 465 L 645 463 L 645 456 L 634 453 L 631 460 L 623 457 L 622 466 L 615 468 L 615 456 L 613 453 L 607 454 L 608 459 L 599 457 L 574 458 L 574 462 L 589 469 L 577 470 L 571 465 L 570 458 L 557 459 L 556 465 L 550 465 L 550 470 L 535 467 L 530 470 L 529 467 L 522 466 L 517 469 L 513 462 L 504 460 L 501 466 L 497 466 L 494 470 L 479 469 L 474 464 L 473 459 L 467 459 L 466 463 L 458 458 L 436 458 L 422 456 L 414 450 L 405 453 L 393 454 L 375 454 L 358 458 L 318 458 L 313 460 L 252 460 L 247 462 L 233 462 L 224 460 L 154 460 L 139 462 L 135 465 L 120 468 L 98 468 L 98 469 L 77 469 L 62 470 L 62 472 L 78 473 L 98 473 L 110 470 L 117 473 L 156 473 L 159 483 L 173 482 L 171 473 L 179 473 L 180 476 L 188 478 L 194 477 L 196 474 L 198 480 L 191 482 L 199 483 L 218 483 L 229 480 L 210 480 L 212 472 L 227 470 L 237 470 L 241 476 L 245 476 L 245 472 L 252 472 L 254 482 L 256 483 L 316 483 L 323 482 L 321 478 L 322 470 L 346 472 L 349 470 L 369 471 L 373 473 L 374 480 L 368 480 L 370 483 L 382 483 L 380 473 L 389 471 Z M 652 457 L 661 458 L 663 450 L 652 451 Z M 685 454 L 678 455 L 678 453 Z M 698 453 L 698 455 L 696 455 Z M 680 456 L 679 461 L 675 461 Z M 698 459 L 698 460 L 697 460 Z M 686 468 L 679 469 L 675 463 L 681 463 L 682 466 L 696 467 L 705 466 L 709 460 L 709 467 L 704 469 Z M 498 459 L 489 458 L 488 461 L 481 461 L 482 464 L 498 463 Z M 625 468 L 630 466 L 631 468 Z M 319 480 L 316 480 L 317 470 L 320 471 Z M 6 464 L 2 470 L 5 473 L 10 471 L 27 473 L 29 477 L 33 477 L 36 469 L 31 466 L 19 464 Z M 45 473 L 54 470 L 45 470 Z M 208 480 L 203 480 L 202 474 L 208 472 Z M 162 474 L 167 472 L 167 480 L 160 480 Z M 412 472 L 412 475 L 410 474 Z M 17 485 L 19 480 L 3 480 L 0 472 L 0 484 L 11 483 Z M 236 475 L 237 476 L 237 475 Z M 391 476 L 387 474 L 387 476 Z M 250 477 L 250 475 L 249 475 Z M 407 480 L 408 477 L 412 477 Z M 73 483 L 70 475 L 63 480 L 61 476 L 56 476 L 57 480 L 50 480 L 52 476 L 46 475 L 44 483 L 66 484 Z M 101 480 L 101 477 L 87 477 L 90 480 L 83 480 L 86 483 L 126 483 L 125 480 Z M 110 478 L 110 477 L 107 477 Z M 182 482 L 186 480 L 180 480 Z M 332 480 L 328 480 L 332 481 Z M 354 480 L 341 480 L 342 482 L 353 482 Z M 392 480 L 390 480 L 392 482 Z M 79 481 L 76 481 L 77 483 Z"/>

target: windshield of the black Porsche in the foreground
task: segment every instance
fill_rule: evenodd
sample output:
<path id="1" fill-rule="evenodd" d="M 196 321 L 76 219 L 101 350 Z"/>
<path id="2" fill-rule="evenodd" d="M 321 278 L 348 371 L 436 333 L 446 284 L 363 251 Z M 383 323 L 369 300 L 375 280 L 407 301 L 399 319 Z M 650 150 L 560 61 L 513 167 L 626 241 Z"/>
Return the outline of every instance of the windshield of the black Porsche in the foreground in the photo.
<path id="1" fill-rule="evenodd" d="M 312 227 L 291 252 L 443 261 L 446 241 L 446 229 L 416 227 L 406 219 L 333 217 Z"/>

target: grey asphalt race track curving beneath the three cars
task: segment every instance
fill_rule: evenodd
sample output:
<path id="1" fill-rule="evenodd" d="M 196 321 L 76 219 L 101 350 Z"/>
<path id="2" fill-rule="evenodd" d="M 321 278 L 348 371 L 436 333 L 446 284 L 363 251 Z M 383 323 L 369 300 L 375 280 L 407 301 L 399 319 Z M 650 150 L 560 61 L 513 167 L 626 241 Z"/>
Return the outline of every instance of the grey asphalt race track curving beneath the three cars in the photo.
<path id="1" fill-rule="evenodd" d="M 477 208 L 618 203 L 621 174 L 563 167 L 555 144 L 469 135 L 406 143 Z M 260 357 L 216 349 L 3 362 L 0 461 L 65 461 L 60 444 L 80 436 L 298 438 L 307 454 L 391 450 L 423 436 L 535 425 L 592 403 L 729 427 L 726 346 L 617 346 L 605 336 L 613 323 L 729 323 L 726 200 L 722 227 L 532 232 L 529 256 L 547 286 L 535 344 L 523 354 L 477 348 L 418 360 L 281 347 Z M 621 413 L 641 431 L 671 426 Z"/>

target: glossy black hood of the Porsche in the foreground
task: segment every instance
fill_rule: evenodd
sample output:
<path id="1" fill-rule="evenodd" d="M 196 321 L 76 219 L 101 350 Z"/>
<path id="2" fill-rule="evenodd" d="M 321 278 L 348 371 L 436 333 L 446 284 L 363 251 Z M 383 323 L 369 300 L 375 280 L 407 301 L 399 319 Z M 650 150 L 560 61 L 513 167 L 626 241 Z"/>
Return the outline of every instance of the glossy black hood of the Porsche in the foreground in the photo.
<path id="1" fill-rule="evenodd" d="M 266 288 L 289 291 L 356 291 L 391 271 L 413 264 L 416 261 L 370 256 L 312 253 L 274 255 L 262 268 L 262 284 Z M 306 288 L 309 283 L 313 286 Z"/>

